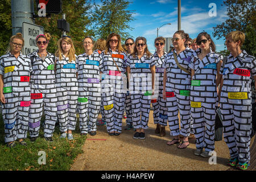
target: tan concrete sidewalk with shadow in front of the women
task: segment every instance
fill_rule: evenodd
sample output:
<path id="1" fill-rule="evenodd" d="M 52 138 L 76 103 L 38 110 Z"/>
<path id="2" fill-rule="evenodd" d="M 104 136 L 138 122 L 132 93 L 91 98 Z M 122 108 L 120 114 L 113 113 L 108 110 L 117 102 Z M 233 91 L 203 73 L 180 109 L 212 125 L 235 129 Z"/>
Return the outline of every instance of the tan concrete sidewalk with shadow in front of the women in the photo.
<path id="1" fill-rule="evenodd" d="M 123 119 L 123 128 L 126 126 Z M 82 150 L 77 156 L 71 171 L 226 171 L 229 159 L 228 147 L 224 140 L 215 142 L 217 164 L 210 165 L 208 158 L 195 156 L 195 140 L 185 149 L 178 149 L 176 145 L 167 146 L 170 137 L 169 127 L 166 127 L 166 137 L 155 134 L 152 111 L 146 130 L 146 139 L 133 139 L 134 131 L 123 132 L 119 136 L 109 136 L 105 126 L 98 126 L 97 135 L 88 135 Z"/>

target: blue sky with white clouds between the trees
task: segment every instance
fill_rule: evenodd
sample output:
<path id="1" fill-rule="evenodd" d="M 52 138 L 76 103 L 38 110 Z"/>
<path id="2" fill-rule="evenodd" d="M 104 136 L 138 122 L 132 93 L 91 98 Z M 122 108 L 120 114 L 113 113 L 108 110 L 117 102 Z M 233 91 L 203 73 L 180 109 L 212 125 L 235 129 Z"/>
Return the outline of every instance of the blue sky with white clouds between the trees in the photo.
<path id="1" fill-rule="evenodd" d="M 155 52 L 154 40 L 159 28 L 159 36 L 170 38 L 177 31 L 177 0 L 129 0 L 131 2 L 128 10 L 134 10 L 135 20 L 129 23 L 133 30 L 129 32 L 134 40 L 138 36 L 147 39 L 147 46 L 151 53 Z M 100 0 L 96 1 L 100 2 Z M 216 5 L 216 16 L 212 16 L 214 3 Z M 213 37 L 213 27 L 228 19 L 226 6 L 223 0 L 181 0 L 181 30 L 184 30 L 194 39 L 200 32 L 207 32 L 216 44 L 216 51 L 225 49 L 224 38 L 217 40 Z M 210 13 L 209 13 L 210 11 Z M 171 23 L 171 25 L 166 24 Z M 164 25 L 166 24 L 166 25 Z"/>

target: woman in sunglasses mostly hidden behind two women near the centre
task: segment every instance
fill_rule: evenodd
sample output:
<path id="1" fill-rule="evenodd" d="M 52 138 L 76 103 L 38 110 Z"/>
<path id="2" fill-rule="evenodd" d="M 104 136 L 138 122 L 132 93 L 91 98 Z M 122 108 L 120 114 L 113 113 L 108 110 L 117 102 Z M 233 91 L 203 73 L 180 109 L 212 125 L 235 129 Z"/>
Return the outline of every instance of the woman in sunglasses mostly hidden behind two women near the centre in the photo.
<path id="1" fill-rule="evenodd" d="M 127 50 L 128 56 L 133 53 L 134 49 L 134 39 L 133 38 L 127 38 L 125 40 L 125 47 Z M 127 72 L 126 72 L 127 76 Z M 127 77 L 128 78 L 128 77 Z M 127 79 L 127 89 L 129 89 L 129 80 Z M 126 93 L 125 97 L 125 113 L 126 113 L 126 127 L 125 130 L 131 130 L 133 129 L 133 113 L 131 112 L 131 96 L 130 93 Z"/>

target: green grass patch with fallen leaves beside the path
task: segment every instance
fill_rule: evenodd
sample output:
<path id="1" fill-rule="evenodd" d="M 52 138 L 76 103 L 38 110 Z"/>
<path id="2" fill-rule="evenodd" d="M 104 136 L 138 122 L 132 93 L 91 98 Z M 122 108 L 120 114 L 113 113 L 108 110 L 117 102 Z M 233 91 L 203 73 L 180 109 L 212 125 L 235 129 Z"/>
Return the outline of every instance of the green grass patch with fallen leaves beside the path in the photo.
<path id="1" fill-rule="evenodd" d="M 29 133 L 28 133 L 29 135 Z M 16 142 L 16 147 L 9 148 L 5 143 L 5 126 L 0 116 L 0 171 L 67 171 L 71 168 L 78 154 L 81 154 L 82 145 L 86 136 L 80 135 L 79 122 L 76 130 L 73 131 L 74 140 L 59 139 L 61 133 L 59 127 L 53 133 L 53 142 L 46 142 L 43 137 L 43 127 L 41 125 L 39 138 L 36 142 L 30 142 L 29 137 L 24 139 L 27 147 L 20 146 Z M 18 140 L 16 140 L 18 141 Z M 39 151 L 46 153 L 46 164 L 38 164 Z"/>

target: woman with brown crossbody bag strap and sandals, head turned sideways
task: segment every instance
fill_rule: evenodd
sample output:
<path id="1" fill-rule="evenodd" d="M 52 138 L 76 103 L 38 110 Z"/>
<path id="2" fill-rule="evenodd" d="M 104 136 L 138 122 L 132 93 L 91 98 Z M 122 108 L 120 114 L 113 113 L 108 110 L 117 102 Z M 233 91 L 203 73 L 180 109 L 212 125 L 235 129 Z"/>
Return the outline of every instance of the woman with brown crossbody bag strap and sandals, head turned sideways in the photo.
<path id="1" fill-rule="evenodd" d="M 183 30 L 175 32 L 172 38 L 174 52 L 168 53 L 164 65 L 163 98 L 167 101 L 168 123 L 174 139 L 168 145 L 179 143 L 178 148 L 183 149 L 189 145 L 188 137 L 191 133 L 191 106 L 190 86 L 191 69 L 188 67 L 192 59 L 193 50 L 186 49 L 184 43 L 188 34 Z M 180 127 L 178 113 L 180 113 Z M 183 135 L 180 143 L 179 134 Z"/>

